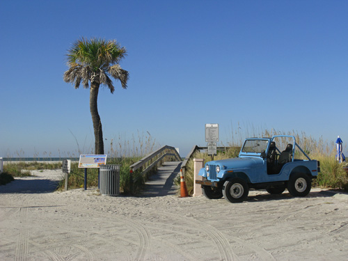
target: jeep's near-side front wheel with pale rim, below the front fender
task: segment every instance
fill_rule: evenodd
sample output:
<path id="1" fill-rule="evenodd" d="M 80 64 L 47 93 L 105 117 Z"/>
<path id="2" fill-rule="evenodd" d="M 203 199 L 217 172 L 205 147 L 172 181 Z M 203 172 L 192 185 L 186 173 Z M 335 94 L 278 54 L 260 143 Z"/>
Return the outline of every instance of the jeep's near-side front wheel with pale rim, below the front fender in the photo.
<path id="1" fill-rule="evenodd" d="M 222 193 L 230 203 L 243 202 L 249 193 L 248 183 L 239 177 L 228 180 L 223 184 Z"/>

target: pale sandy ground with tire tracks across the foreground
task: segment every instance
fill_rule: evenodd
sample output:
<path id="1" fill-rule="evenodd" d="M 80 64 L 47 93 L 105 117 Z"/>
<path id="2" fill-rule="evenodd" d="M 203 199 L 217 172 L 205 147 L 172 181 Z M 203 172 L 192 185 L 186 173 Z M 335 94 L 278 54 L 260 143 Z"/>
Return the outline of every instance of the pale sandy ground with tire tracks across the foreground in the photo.
<path id="1" fill-rule="evenodd" d="M 173 194 L 52 192 L 61 171 L 0 187 L 0 260 L 347 260 L 348 196 L 251 191 L 244 203 Z"/>

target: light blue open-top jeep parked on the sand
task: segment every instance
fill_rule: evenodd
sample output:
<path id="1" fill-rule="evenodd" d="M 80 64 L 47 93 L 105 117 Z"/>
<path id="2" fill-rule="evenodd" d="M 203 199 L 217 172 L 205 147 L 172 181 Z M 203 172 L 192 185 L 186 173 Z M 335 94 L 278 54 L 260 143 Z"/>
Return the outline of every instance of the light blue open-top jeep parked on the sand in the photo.
<path id="1" fill-rule="evenodd" d="M 281 145 L 286 147 L 280 152 Z M 300 154 L 295 148 L 307 159 L 295 159 Z M 207 198 L 224 197 L 231 203 L 244 201 L 249 189 L 266 189 L 271 194 L 287 189 L 292 196 L 303 197 L 319 171 L 319 161 L 310 159 L 294 136 L 278 135 L 246 139 L 237 158 L 207 162 L 198 174 L 203 180 L 196 183 Z"/>

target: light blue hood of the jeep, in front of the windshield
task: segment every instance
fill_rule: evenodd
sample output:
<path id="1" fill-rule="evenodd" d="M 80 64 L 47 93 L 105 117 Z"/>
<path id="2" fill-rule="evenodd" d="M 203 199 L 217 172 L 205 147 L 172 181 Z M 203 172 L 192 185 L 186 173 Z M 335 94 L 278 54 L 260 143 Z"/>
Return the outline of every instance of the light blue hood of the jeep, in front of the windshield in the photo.
<path id="1" fill-rule="evenodd" d="M 209 161 L 207 162 L 207 164 L 219 165 L 221 170 L 230 168 L 254 168 L 257 165 L 262 165 L 263 159 L 257 157 L 242 157 L 234 159 Z"/>

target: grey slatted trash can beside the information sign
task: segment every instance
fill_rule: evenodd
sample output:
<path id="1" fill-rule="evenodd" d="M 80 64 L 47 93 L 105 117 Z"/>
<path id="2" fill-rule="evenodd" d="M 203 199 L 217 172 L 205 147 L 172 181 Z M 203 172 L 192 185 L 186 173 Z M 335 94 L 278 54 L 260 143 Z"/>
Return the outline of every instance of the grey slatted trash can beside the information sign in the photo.
<path id="1" fill-rule="evenodd" d="M 102 196 L 120 195 L 120 165 L 100 166 L 100 193 Z"/>

